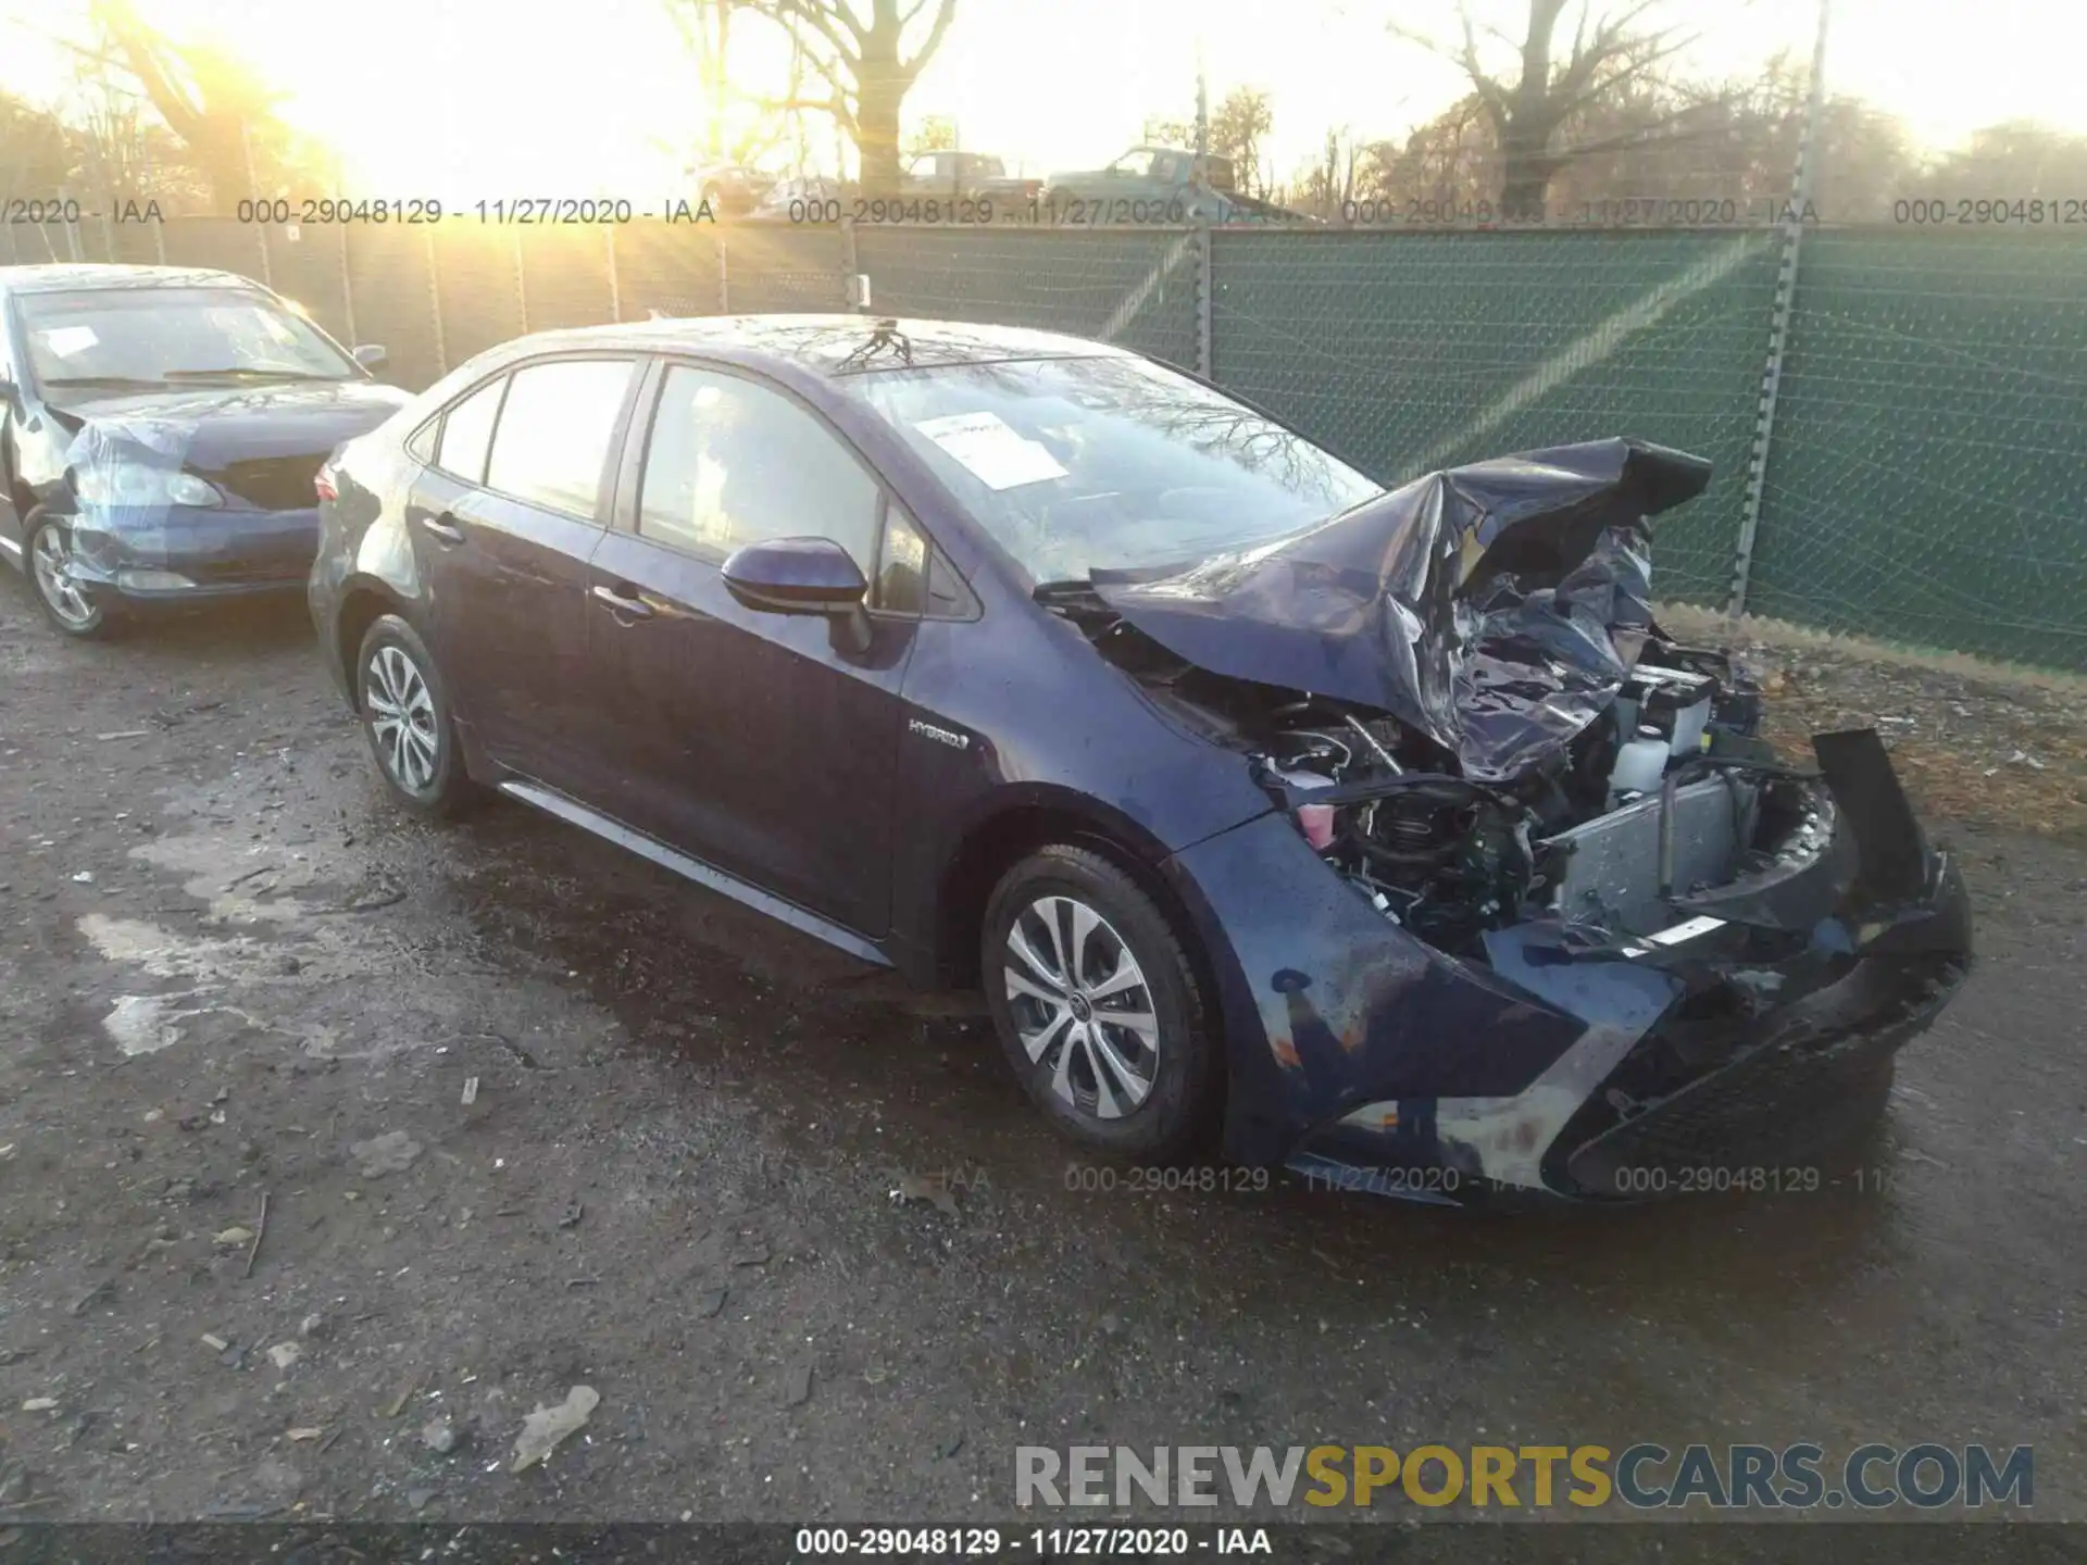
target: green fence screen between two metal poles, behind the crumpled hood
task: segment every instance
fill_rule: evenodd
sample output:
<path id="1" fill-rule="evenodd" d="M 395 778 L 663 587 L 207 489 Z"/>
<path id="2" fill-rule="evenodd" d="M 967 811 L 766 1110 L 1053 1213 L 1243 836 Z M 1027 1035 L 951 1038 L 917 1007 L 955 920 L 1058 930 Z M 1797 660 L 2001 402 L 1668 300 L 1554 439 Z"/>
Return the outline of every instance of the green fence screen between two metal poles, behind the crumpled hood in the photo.
<path id="1" fill-rule="evenodd" d="M 1709 457 L 1663 597 L 1720 601 L 1768 346 L 1774 234 L 1215 234 L 1215 380 L 1382 482 L 1636 434 Z"/>

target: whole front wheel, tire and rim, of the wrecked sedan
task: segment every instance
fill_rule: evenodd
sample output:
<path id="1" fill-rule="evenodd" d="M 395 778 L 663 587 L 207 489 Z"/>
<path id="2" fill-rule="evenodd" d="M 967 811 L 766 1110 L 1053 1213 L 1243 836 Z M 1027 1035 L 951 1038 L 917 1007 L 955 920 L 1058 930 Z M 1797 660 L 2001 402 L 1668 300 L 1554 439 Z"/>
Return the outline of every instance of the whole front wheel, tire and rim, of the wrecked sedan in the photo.
<path id="1" fill-rule="evenodd" d="M 1169 1162 L 1210 1131 L 1223 1068 L 1202 985 L 1167 914 L 1110 860 L 1056 843 L 1008 870 L 981 970 L 1008 1064 L 1062 1135 Z"/>

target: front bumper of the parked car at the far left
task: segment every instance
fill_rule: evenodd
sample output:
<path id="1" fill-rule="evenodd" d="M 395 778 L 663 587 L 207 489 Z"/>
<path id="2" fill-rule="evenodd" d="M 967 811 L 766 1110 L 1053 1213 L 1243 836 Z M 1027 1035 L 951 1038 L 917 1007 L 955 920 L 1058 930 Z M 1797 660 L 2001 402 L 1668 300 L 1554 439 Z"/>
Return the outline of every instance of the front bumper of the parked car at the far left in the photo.
<path id="1" fill-rule="evenodd" d="M 319 549 L 319 511 L 205 507 L 81 509 L 73 580 L 94 599 L 173 605 L 288 593 Z"/>

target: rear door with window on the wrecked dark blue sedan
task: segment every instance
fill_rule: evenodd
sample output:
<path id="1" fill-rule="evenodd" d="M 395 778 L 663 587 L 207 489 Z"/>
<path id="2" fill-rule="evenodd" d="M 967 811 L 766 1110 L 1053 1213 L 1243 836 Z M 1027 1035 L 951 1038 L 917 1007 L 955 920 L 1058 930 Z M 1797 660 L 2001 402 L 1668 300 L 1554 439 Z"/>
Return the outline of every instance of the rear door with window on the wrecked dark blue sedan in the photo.
<path id="1" fill-rule="evenodd" d="M 586 561 L 603 536 L 632 357 L 526 363 L 453 403 L 407 530 L 451 699 L 501 766 L 586 795 Z"/>

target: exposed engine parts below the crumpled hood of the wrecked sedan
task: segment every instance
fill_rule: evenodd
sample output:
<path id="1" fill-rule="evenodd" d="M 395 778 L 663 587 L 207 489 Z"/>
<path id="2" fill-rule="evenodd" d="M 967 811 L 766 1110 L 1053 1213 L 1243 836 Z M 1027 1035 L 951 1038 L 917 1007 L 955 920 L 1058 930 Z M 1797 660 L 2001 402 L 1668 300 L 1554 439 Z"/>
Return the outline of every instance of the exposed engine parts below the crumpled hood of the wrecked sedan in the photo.
<path id="1" fill-rule="evenodd" d="M 1830 803 L 1755 737 L 1722 653 L 1657 645 L 1615 703 L 1509 780 L 1457 776 L 1390 718 L 1304 699 L 1269 714 L 1265 780 L 1319 856 L 1436 949 L 1538 916 L 1665 929 L 1678 895 L 1816 853 Z"/>

